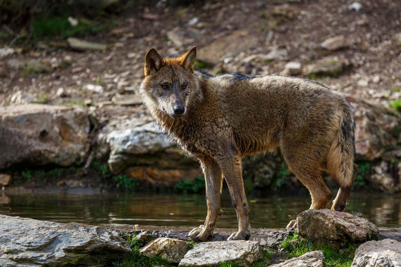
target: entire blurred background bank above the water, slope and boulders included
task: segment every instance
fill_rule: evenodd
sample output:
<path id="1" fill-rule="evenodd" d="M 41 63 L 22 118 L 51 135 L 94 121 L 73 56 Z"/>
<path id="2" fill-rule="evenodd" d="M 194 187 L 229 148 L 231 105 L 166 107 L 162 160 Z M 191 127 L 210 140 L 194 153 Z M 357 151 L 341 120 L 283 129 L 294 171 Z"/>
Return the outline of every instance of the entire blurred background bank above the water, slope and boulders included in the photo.
<path id="1" fill-rule="evenodd" d="M 294 75 L 346 95 L 355 187 L 399 192 L 400 14 L 385 0 L 0 0 L 0 170 L 26 186 L 202 190 L 197 162 L 135 93 L 149 48 L 197 46 L 211 74 Z M 246 159 L 244 177 L 248 190 L 302 188 L 278 152 Z"/>

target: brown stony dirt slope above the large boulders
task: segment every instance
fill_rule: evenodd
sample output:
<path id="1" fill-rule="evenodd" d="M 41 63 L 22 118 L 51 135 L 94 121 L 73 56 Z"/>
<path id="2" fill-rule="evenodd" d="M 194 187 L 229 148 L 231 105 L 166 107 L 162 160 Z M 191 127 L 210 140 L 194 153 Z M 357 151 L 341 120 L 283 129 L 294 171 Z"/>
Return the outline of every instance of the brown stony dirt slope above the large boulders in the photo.
<path id="1" fill-rule="evenodd" d="M 224 1 L 175 8 L 163 3 L 112 17 L 111 29 L 84 38 L 107 44 L 103 51 L 79 52 L 51 42 L 39 42 L 29 50 L 14 47 L 15 54 L 0 60 L 0 106 L 24 101 L 86 105 L 92 106 L 89 109 L 101 121 L 139 116 L 145 111 L 134 94 L 143 78 L 145 51 L 151 47 L 161 54 L 185 52 L 192 46 L 202 49 L 239 29 L 258 39 L 256 46 L 244 51 L 246 56 L 267 54 L 275 47 L 288 54 L 285 59 L 254 63 L 243 74 L 280 73 L 288 61 L 305 66 L 335 56 L 347 59 L 350 67 L 337 77 L 319 77 L 323 83 L 386 106 L 401 98 L 401 46 L 395 39 L 401 32 L 400 1 L 362 0 L 359 11 L 350 8 L 354 1 L 346 0 Z M 189 30 L 191 36 L 178 43 L 168 37 L 171 31 L 186 34 Z M 344 35 L 347 47 L 337 51 L 320 47 L 325 39 L 337 35 Z M 238 44 L 245 41 L 235 40 Z M 37 59 L 51 71 L 39 74 L 15 69 L 7 64 L 10 59 Z M 88 84 L 103 90 L 88 90 Z M 15 96 L 19 91 L 20 98 Z M 117 98 L 134 101 L 121 105 Z"/>

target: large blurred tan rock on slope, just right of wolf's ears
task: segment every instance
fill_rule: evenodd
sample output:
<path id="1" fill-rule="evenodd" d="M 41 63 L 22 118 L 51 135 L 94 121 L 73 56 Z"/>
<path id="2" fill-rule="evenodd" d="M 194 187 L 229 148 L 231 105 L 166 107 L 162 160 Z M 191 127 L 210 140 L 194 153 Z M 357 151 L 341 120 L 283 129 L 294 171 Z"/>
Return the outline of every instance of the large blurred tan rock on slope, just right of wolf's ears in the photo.
<path id="1" fill-rule="evenodd" d="M 258 43 L 259 39 L 254 34 L 249 34 L 246 30 L 236 30 L 199 49 L 197 58 L 217 65 L 223 58 L 236 56 L 240 52 L 255 48 Z"/>

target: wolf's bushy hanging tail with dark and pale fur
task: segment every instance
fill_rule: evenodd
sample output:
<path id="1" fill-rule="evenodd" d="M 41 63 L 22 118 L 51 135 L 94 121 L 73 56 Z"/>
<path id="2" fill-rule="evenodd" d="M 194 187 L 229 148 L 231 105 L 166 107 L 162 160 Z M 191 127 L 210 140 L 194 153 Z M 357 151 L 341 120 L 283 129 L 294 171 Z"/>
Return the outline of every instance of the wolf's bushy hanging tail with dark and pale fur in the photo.
<path id="1" fill-rule="evenodd" d="M 340 127 L 327 157 L 327 169 L 340 187 L 352 186 L 358 166 L 354 166 L 355 122 L 352 107 L 345 99 L 341 103 Z"/>

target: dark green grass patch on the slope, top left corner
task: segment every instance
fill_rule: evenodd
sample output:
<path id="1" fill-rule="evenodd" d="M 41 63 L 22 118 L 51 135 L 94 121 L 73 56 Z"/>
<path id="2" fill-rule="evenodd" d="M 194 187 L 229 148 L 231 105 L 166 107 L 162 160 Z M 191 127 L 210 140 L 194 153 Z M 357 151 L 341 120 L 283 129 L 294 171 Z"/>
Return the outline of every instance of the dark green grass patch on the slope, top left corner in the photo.
<path id="1" fill-rule="evenodd" d="M 94 34 L 105 27 L 97 25 L 88 19 L 79 19 L 77 26 L 71 26 L 68 15 L 37 16 L 32 20 L 30 32 L 34 40 L 45 37 L 71 37 L 85 34 Z"/>

